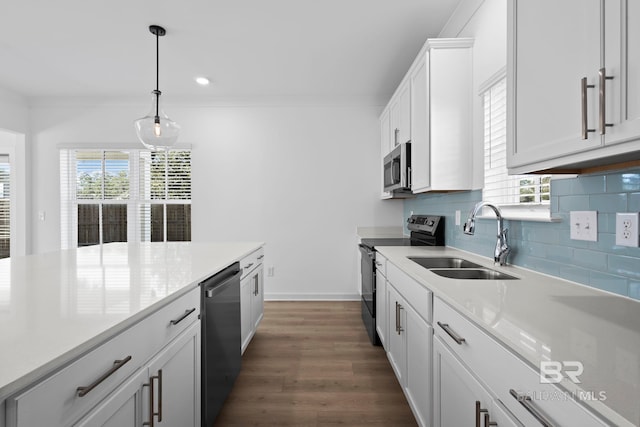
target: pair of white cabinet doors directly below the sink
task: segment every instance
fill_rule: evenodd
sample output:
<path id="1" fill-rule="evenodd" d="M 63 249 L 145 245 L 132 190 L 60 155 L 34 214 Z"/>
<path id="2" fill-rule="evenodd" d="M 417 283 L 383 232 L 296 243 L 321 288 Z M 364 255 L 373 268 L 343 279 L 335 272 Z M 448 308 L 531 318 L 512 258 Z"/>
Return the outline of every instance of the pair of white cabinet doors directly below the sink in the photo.
<path id="1" fill-rule="evenodd" d="M 391 282 L 387 282 L 387 316 L 387 357 L 416 421 L 430 426 L 433 328 Z"/>

